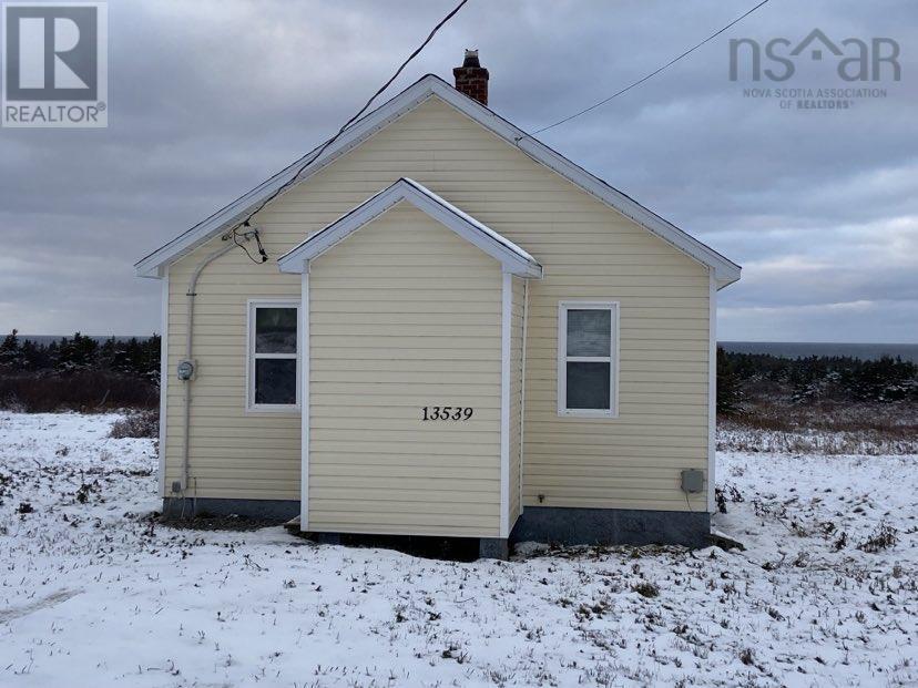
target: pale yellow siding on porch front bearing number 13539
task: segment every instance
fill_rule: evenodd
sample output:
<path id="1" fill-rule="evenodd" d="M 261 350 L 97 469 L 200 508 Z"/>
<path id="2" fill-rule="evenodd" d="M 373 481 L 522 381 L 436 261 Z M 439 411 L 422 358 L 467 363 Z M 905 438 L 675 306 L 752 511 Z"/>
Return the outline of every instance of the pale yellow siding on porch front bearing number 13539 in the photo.
<path id="1" fill-rule="evenodd" d="M 499 534 L 500 324 L 500 265 L 404 202 L 312 261 L 310 531 Z"/>

